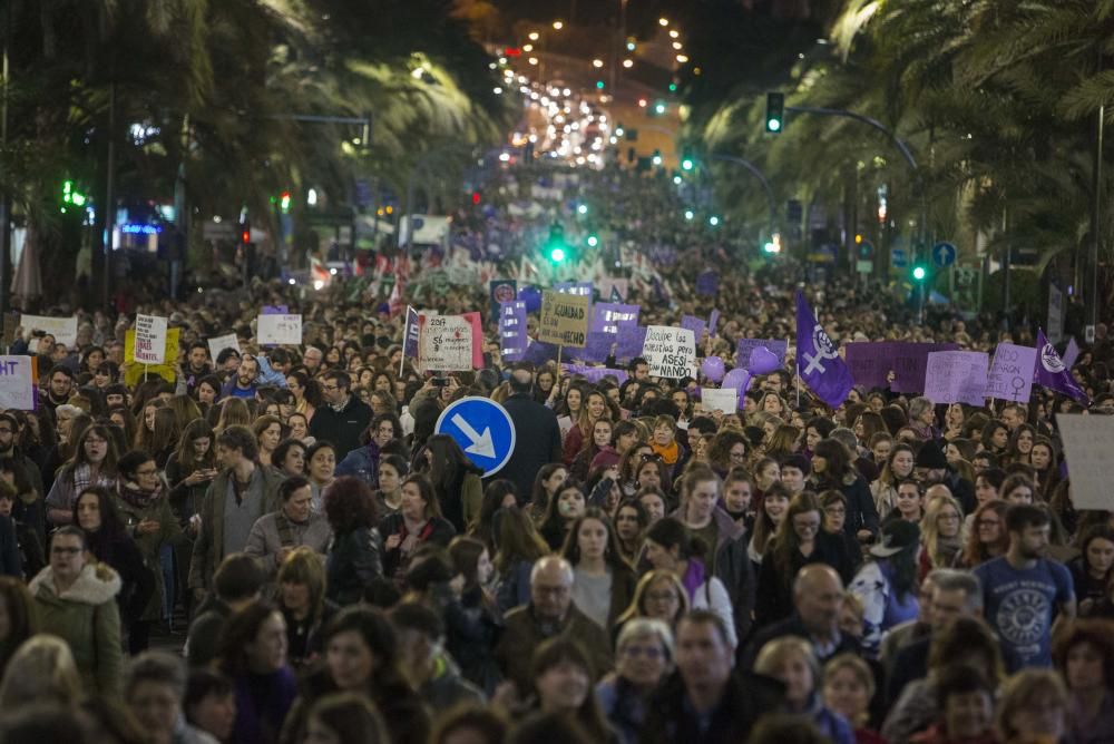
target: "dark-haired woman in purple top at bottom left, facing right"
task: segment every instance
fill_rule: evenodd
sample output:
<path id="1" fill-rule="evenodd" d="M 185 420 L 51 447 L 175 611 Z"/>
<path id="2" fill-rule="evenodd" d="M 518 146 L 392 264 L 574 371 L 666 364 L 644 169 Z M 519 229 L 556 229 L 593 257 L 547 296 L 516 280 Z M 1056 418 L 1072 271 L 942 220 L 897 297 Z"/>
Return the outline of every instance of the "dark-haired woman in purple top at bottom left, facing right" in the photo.
<path id="1" fill-rule="evenodd" d="M 235 688 L 232 741 L 275 744 L 297 694 L 282 613 L 262 600 L 234 613 L 221 635 L 217 666 Z"/>

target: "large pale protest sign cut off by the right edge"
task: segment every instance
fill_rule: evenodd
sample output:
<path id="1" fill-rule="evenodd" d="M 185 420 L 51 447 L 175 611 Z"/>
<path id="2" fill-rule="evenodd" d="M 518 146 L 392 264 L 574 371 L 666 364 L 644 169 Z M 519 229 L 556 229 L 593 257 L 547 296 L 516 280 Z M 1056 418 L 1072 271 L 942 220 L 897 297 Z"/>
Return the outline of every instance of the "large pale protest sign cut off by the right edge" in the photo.
<path id="1" fill-rule="evenodd" d="M 1056 425 L 1064 442 L 1067 477 L 1072 479 L 1072 506 L 1076 510 L 1114 509 L 1114 491 L 1110 488 L 1114 417 L 1057 413 Z"/>

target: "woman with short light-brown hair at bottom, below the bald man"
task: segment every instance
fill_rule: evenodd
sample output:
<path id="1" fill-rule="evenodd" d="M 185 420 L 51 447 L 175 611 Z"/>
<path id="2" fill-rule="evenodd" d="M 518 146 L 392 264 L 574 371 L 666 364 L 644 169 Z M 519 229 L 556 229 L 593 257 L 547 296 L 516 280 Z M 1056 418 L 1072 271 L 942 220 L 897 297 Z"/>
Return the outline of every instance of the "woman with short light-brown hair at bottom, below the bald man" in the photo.
<path id="1" fill-rule="evenodd" d="M 808 716 L 832 744 L 854 744 L 851 725 L 824 705 L 820 696 L 820 663 L 803 638 L 789 636 L 769 642 L 754 660 L 754 672 L 785 685 L 785 707 Z"/>

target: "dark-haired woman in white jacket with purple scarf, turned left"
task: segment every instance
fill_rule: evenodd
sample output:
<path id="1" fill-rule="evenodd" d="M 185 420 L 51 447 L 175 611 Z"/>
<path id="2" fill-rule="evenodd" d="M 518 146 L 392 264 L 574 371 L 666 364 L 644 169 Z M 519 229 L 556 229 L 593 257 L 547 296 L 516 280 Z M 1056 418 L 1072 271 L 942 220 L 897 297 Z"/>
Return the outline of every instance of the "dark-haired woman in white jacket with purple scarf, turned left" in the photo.
<path id="1" fill-rule="evenodd" d="M 646 531 L 646 560 L 654 568 L 673 571 L 688 594 L 693 609 L 711 609 L 727 628 L 731 646 L 737 646 L 734 609 L 723 583 L 704 567 L 702 542 L 694 540 L 684 525 L 666 517 Z"/>

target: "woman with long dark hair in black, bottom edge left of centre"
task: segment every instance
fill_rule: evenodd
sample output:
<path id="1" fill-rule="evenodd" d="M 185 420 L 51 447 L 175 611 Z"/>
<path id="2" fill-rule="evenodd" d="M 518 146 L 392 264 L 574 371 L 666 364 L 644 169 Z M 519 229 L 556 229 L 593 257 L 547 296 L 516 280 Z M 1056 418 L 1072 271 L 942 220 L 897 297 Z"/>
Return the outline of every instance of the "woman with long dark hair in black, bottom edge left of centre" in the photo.
<path id="1" fill-rule="evenodd" d="M 390 620 L 378 609 L 349 607 L 329 621 L 323 640 L 324 664 L 306 676 L 283 727 L 282 744 L 305 741 L 310 709 L 336 692 L 370 701 L 393 744 L 426 744 L 429 716 L 402 673 L 401 644 Z"/>

